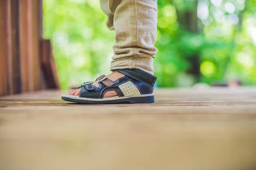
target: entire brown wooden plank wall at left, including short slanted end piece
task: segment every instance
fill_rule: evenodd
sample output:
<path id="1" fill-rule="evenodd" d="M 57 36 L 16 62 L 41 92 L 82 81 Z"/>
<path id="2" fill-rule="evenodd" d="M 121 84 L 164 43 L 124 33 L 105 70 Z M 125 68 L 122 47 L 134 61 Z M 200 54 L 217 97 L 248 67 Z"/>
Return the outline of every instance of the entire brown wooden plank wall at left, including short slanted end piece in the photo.
<path id="1" fill-rule="evenodd" d="M 59 88 L 42 0 L 0 0 L 0 96 Z"/>

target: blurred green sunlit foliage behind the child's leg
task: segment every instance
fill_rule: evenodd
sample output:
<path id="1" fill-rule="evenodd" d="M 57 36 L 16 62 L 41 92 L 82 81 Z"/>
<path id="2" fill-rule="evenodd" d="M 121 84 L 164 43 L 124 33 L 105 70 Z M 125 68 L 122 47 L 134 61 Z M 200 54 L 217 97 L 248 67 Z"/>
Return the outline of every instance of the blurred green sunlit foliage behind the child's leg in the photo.
<path id="1" fill-rule="evenodd" d="M 158 87 L 256 85 L 256 0 L 157 0 Z M 110 73 L 114 31 L 99 0 L 44 0 L 61 88 Z M 79 84 L 80 83 L 80 84 Z"/>

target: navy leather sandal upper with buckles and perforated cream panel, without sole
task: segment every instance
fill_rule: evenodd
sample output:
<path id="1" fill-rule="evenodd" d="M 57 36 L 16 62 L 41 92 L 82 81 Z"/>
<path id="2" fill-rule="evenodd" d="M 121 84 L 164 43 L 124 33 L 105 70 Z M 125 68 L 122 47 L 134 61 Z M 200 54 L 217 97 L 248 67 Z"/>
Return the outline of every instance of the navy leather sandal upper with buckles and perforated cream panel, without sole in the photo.
<path id="1" fill-rule="evenodd" d="M 125 74 L 125 77 L 113 82 L 107 76 L 102 75 L 96 79 L 99 81 L 99 86 L 93 86 L 93 82 L 86 82 L 81 85 L 79 96 L 102 99 L 107 91 L 116 91 L 119 97 L 153 93 L 153 86 L 157 77 L 139 69 L 117 69 L 116 71 Z"/>

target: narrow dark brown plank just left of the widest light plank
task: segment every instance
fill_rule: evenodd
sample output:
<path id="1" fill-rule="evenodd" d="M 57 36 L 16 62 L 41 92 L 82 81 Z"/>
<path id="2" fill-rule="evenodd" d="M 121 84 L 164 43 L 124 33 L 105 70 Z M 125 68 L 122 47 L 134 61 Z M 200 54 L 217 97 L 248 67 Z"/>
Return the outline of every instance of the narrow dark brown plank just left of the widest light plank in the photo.
<path id="1" fill-rule="evenodd" d="M 20 50 L 19 50 L 19 0 L 9 0 L 11 11 L 11 60 L 12 93 L 21 93 Z"/>

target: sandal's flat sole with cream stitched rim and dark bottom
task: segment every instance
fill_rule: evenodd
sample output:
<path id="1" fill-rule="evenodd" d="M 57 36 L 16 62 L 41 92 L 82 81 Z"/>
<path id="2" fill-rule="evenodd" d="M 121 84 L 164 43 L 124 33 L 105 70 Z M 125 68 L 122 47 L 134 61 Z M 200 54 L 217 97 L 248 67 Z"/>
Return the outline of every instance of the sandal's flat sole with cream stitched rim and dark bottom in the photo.
<path id="1" fill-rule="evenodd" d="M 141 94 L 136 96 L 128 96 L 128 97 L 105 97 L 103 99 L 91 99 L 84 98 L 79 96 L 72 96 L 62 94 L 62 100 L 67 102 L 76 102 L 81 104 L 90 104 L 90 105 L 100 105 L 100 104 L 122 104 L 122 103 L 154 103 L 154 94 Z"/>

